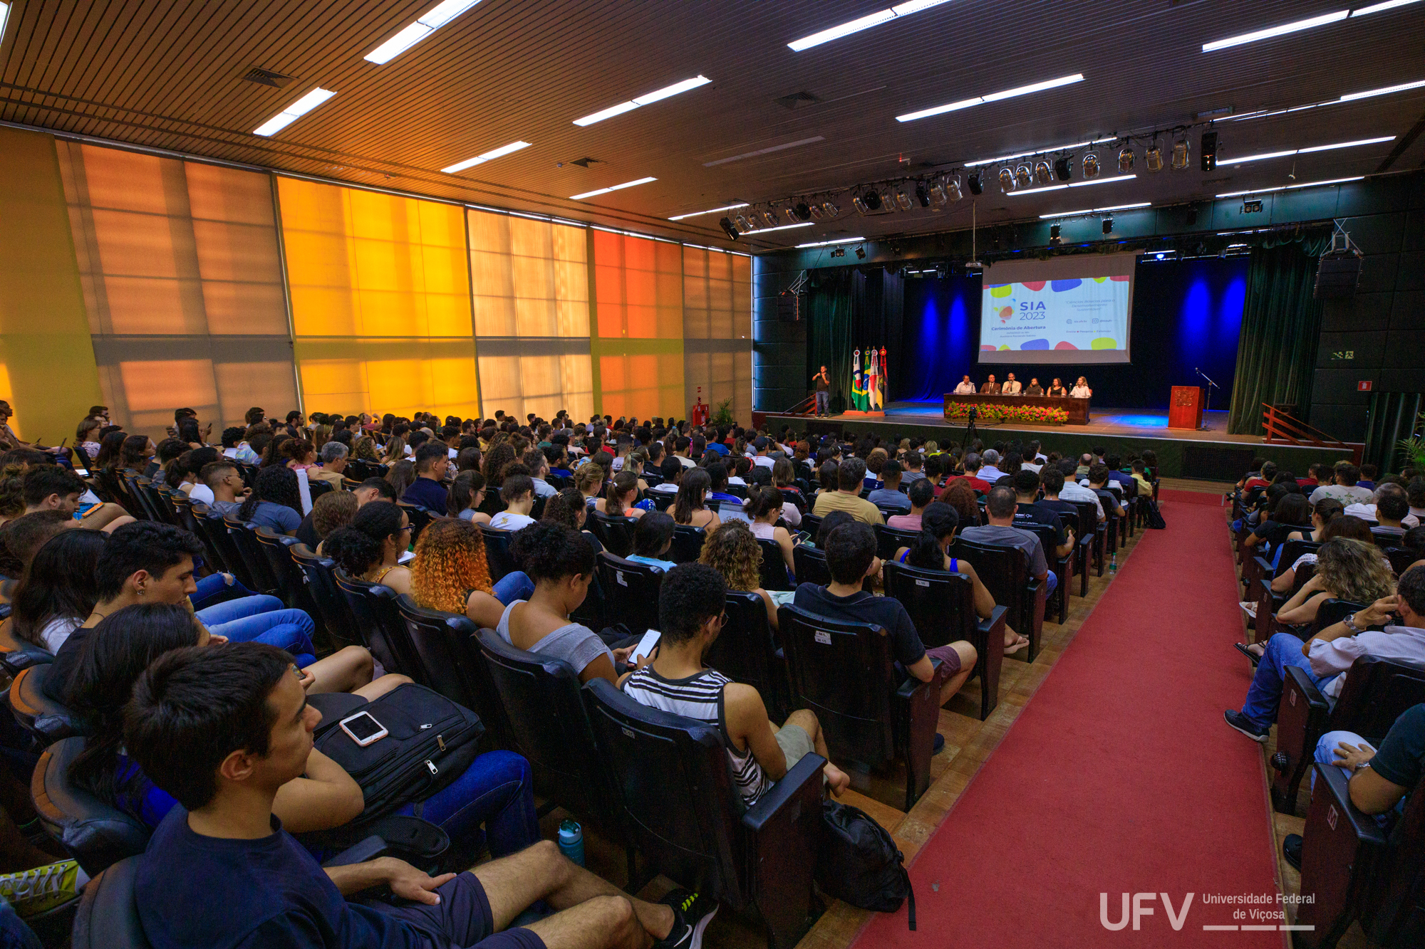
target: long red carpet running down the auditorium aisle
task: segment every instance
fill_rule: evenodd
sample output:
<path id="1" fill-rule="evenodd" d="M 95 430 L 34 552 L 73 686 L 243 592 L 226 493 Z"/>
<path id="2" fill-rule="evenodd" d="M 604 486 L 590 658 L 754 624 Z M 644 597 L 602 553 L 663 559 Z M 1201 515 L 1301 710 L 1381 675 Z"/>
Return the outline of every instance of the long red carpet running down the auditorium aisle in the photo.
<path id="1" fill-rule="evenodd" d="M 1164 494 L 1168 529 L 1146 531 L 1120 564 L 921 849 L 911 869 L 919 930 L 906 930 L 902 908 L 875 916 L 855 949 L 1284 945 L 1288 933 L 1275 925 L 1203 929 L 1264 925 L 1253 908 L 1234 919 L 1238 908 L 1203 901 L 1275 901 L 1275 865 L 1261 751 L 1223 724 L 1250 675 L 1231 648 L 1241 624 L 1223 513 L 1211 494 Z M 1123 919 L 1123 893 L 1130 913 L 1133 893 L 1153 895 L 1139 898 L 1137 932 L 1131 915 L 1126 928 L 1104 929 L 1100 892 L 1110 925 Z"/>

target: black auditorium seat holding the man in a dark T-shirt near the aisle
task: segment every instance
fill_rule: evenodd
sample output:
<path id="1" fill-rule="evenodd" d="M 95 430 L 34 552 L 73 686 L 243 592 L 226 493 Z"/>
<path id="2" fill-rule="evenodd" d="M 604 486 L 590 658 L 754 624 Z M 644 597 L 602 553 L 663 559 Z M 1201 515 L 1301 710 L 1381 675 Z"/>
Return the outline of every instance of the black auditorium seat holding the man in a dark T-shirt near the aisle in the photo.
<path id="1" fill-rule="evenodd" d="M 777 610 L 777 628 L 792 705 L 817 714 L 826 748 L 842 768 L 903 765 L 909 811 L 931 784 L 945 667 L 932 660 L 936 674 L 929 683 L 899 683 L 884 630 L 794 606 Z"/>

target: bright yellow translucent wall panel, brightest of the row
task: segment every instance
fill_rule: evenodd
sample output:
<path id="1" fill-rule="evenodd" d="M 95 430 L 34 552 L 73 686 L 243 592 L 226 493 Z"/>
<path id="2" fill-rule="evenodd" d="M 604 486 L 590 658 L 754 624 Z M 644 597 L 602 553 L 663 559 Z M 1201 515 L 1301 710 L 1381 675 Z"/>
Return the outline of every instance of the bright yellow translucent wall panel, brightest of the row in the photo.
<path id="1" fill-rule="evenodd" d="M 479 415 L 457 205 L 278 178 L 302 400 Z"/>

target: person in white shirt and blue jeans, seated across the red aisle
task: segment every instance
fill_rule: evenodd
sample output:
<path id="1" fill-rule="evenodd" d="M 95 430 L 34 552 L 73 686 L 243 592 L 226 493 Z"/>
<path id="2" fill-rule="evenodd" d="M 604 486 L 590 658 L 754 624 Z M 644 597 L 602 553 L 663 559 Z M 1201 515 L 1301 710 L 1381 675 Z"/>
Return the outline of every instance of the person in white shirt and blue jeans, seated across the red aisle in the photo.
<path id="1" fill-rule="evenodd" d="M 1401 617 L 1399 624 L 1385 626 L 1392 614 Z M 1371 626 L 1385 626 L 1385 631 L 1367 628 Z M 1253 741 L 1265 744 L 1271 724 L 1277 721 L 1287 665 L 1305 670 L 1312 684 L 1334 698 L 1341 694 L 1344 673 L 1361 655 L 1425 664 L 1425 566 L 1415 564 L 1406 570 L 1396 583 L 1395 596 L 1352 613 L 1310 643 L 1291 633 L 1273 636 L 1263 650 L 1241 711 L 1228 708 L 1223 717 Z"/>

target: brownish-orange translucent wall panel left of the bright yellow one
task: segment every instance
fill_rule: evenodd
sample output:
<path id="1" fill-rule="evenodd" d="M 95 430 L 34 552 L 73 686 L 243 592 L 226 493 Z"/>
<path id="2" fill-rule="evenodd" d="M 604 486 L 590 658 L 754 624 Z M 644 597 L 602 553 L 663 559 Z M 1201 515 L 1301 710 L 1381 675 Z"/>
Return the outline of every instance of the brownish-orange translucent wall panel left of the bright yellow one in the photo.
<path id="1" fill-rule="evenodd" d="M 56 148 L 111 418 L 160 436 L 175 408 L 214 430 L 241 423 L 252 405 L 295 408 L 271 178 Z"/>

